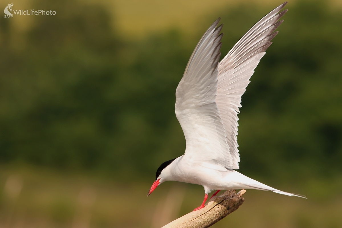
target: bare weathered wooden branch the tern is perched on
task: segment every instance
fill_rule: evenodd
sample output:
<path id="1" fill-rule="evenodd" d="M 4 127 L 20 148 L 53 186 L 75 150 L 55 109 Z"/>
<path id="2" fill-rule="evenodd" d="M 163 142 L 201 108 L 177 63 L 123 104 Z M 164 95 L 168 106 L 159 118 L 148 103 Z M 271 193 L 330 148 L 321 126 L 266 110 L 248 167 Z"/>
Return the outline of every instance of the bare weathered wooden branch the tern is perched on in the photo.
<path id="1" fill-rule="evenodd" d="M 245 189 L 238 193 L 235 190 L 227 190 L 220 196 L 213 197 L 204 208 L 190 212 L 162 228 L 210 227 L 238 209 L 245 200 L 241 197 L 245 192 Z"/>

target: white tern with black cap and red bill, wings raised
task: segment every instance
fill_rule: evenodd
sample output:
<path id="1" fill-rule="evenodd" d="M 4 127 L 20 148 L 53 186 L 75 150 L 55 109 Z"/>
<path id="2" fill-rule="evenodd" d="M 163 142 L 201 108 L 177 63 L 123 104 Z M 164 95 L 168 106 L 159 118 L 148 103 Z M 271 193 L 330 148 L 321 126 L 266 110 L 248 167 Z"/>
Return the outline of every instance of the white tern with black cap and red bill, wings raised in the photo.
<path id="1" fill-rule="evenodd" d="M 182 127 L 186 148 L 181 157 L 162 163 L 149 196 L 161 183 L 178 181 L 202 185 L 205 207 L 208 193 L 217 190 L 258 189 L 306 198 L 281 191 L 249 178 L 239 169 L 237 144 L 238 113 L 241 96 L 246 91 L 266 49 L 277 35 L 275 29 L 284 21 L 287 2 L 260 19 L 220 60 L 222 26 L 218 18 L 195 47 L 184 75 L 176 89 L 175 112 Z M 280 13 L 279 13 L 280 12 Z"/>

